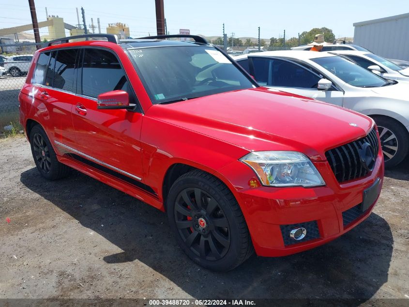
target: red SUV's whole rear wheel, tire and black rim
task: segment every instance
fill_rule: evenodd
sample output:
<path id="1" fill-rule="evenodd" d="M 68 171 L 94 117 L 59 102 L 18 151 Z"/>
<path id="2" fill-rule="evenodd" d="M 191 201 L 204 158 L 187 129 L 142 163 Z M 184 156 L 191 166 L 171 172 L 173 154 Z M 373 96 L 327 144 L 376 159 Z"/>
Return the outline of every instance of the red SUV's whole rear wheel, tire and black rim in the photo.
<path id="1" fill-rule="evenodd" d="M 31 153 L 40 174 L 48 180 L 64 178 L 70 168 L 57 160 L 57 155 L 44 129 L 40 125 L 30 131 Z"/>

